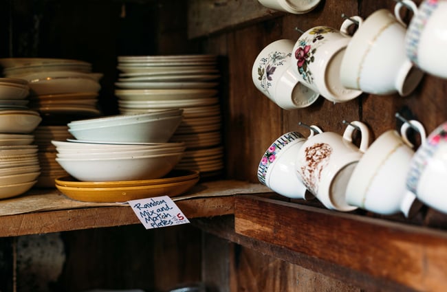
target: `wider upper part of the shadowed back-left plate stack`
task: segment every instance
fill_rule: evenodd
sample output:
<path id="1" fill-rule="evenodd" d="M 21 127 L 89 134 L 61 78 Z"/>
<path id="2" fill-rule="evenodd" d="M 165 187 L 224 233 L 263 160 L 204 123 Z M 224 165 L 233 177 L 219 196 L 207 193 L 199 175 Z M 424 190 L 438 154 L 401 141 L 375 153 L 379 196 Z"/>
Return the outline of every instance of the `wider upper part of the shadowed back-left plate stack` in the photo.
<path id="1" fill-rule="evenodd" d="M 60 58 L 0 58 L 0 66 L 6 78 L 28 82 L 28 106 L 41 113 L 43 124 L 63 125 L 100 115 L 102 74 L 92 73 L 90 63 Z"/>

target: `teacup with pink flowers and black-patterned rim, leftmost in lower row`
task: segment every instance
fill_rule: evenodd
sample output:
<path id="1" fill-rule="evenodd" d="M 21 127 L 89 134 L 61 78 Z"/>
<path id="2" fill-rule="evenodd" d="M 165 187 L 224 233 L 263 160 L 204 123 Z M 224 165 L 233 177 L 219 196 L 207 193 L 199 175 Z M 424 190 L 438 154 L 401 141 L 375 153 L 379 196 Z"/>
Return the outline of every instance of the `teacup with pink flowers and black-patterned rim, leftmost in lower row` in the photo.
<path id="1" fill-rule="evenodd" d="M 312 126 L 317 133 L 320 128 Z M 309 137 L 314 135 L 311 131 Z M 274 192 L 292 199 L 311 199 L 306 187 L 295 175 L 295 159 L 299 148 L 307 138 L 301 133 L 290 132 L 281 135 L 265 151 L 258 167 L 258 179 Z"/>

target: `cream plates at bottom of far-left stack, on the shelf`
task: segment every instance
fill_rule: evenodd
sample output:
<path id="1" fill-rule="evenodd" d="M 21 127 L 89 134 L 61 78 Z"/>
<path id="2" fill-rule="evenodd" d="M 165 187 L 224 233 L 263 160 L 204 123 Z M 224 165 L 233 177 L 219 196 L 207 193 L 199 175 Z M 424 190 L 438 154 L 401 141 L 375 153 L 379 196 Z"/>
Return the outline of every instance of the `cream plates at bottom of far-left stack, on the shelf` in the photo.
<path id="1" fill-rule="evenodd" d="M 40 174 L 36 153 L 36 145 L 0 146 L 0 199 L 19 196 L 34 186 Z"/>

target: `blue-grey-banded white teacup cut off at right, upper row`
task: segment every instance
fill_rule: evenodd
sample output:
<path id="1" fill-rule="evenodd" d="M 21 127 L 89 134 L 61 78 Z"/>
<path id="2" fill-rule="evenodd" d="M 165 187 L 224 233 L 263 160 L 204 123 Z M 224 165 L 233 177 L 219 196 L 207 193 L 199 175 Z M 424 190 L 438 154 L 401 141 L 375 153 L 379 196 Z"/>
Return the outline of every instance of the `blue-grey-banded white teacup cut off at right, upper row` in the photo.
<path id="1" fill-rule="evenodd" d="M 425 0 L 411 19 L 405 37 L 406 55 L 422 70 L 447 78 L 447 1 Z"/>

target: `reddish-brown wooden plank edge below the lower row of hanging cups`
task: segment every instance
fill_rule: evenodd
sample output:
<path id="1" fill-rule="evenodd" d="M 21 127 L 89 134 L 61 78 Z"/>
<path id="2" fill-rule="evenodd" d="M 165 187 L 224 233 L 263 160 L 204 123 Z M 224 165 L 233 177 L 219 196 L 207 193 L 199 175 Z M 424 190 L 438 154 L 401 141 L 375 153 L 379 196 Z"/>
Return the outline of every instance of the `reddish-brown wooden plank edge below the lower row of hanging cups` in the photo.
<path id="1" fill-rule="evenodd" d="M 235 199 L 235 232 L 408 291 L 444 291 L 445 232 L 257 196 Z"/>

